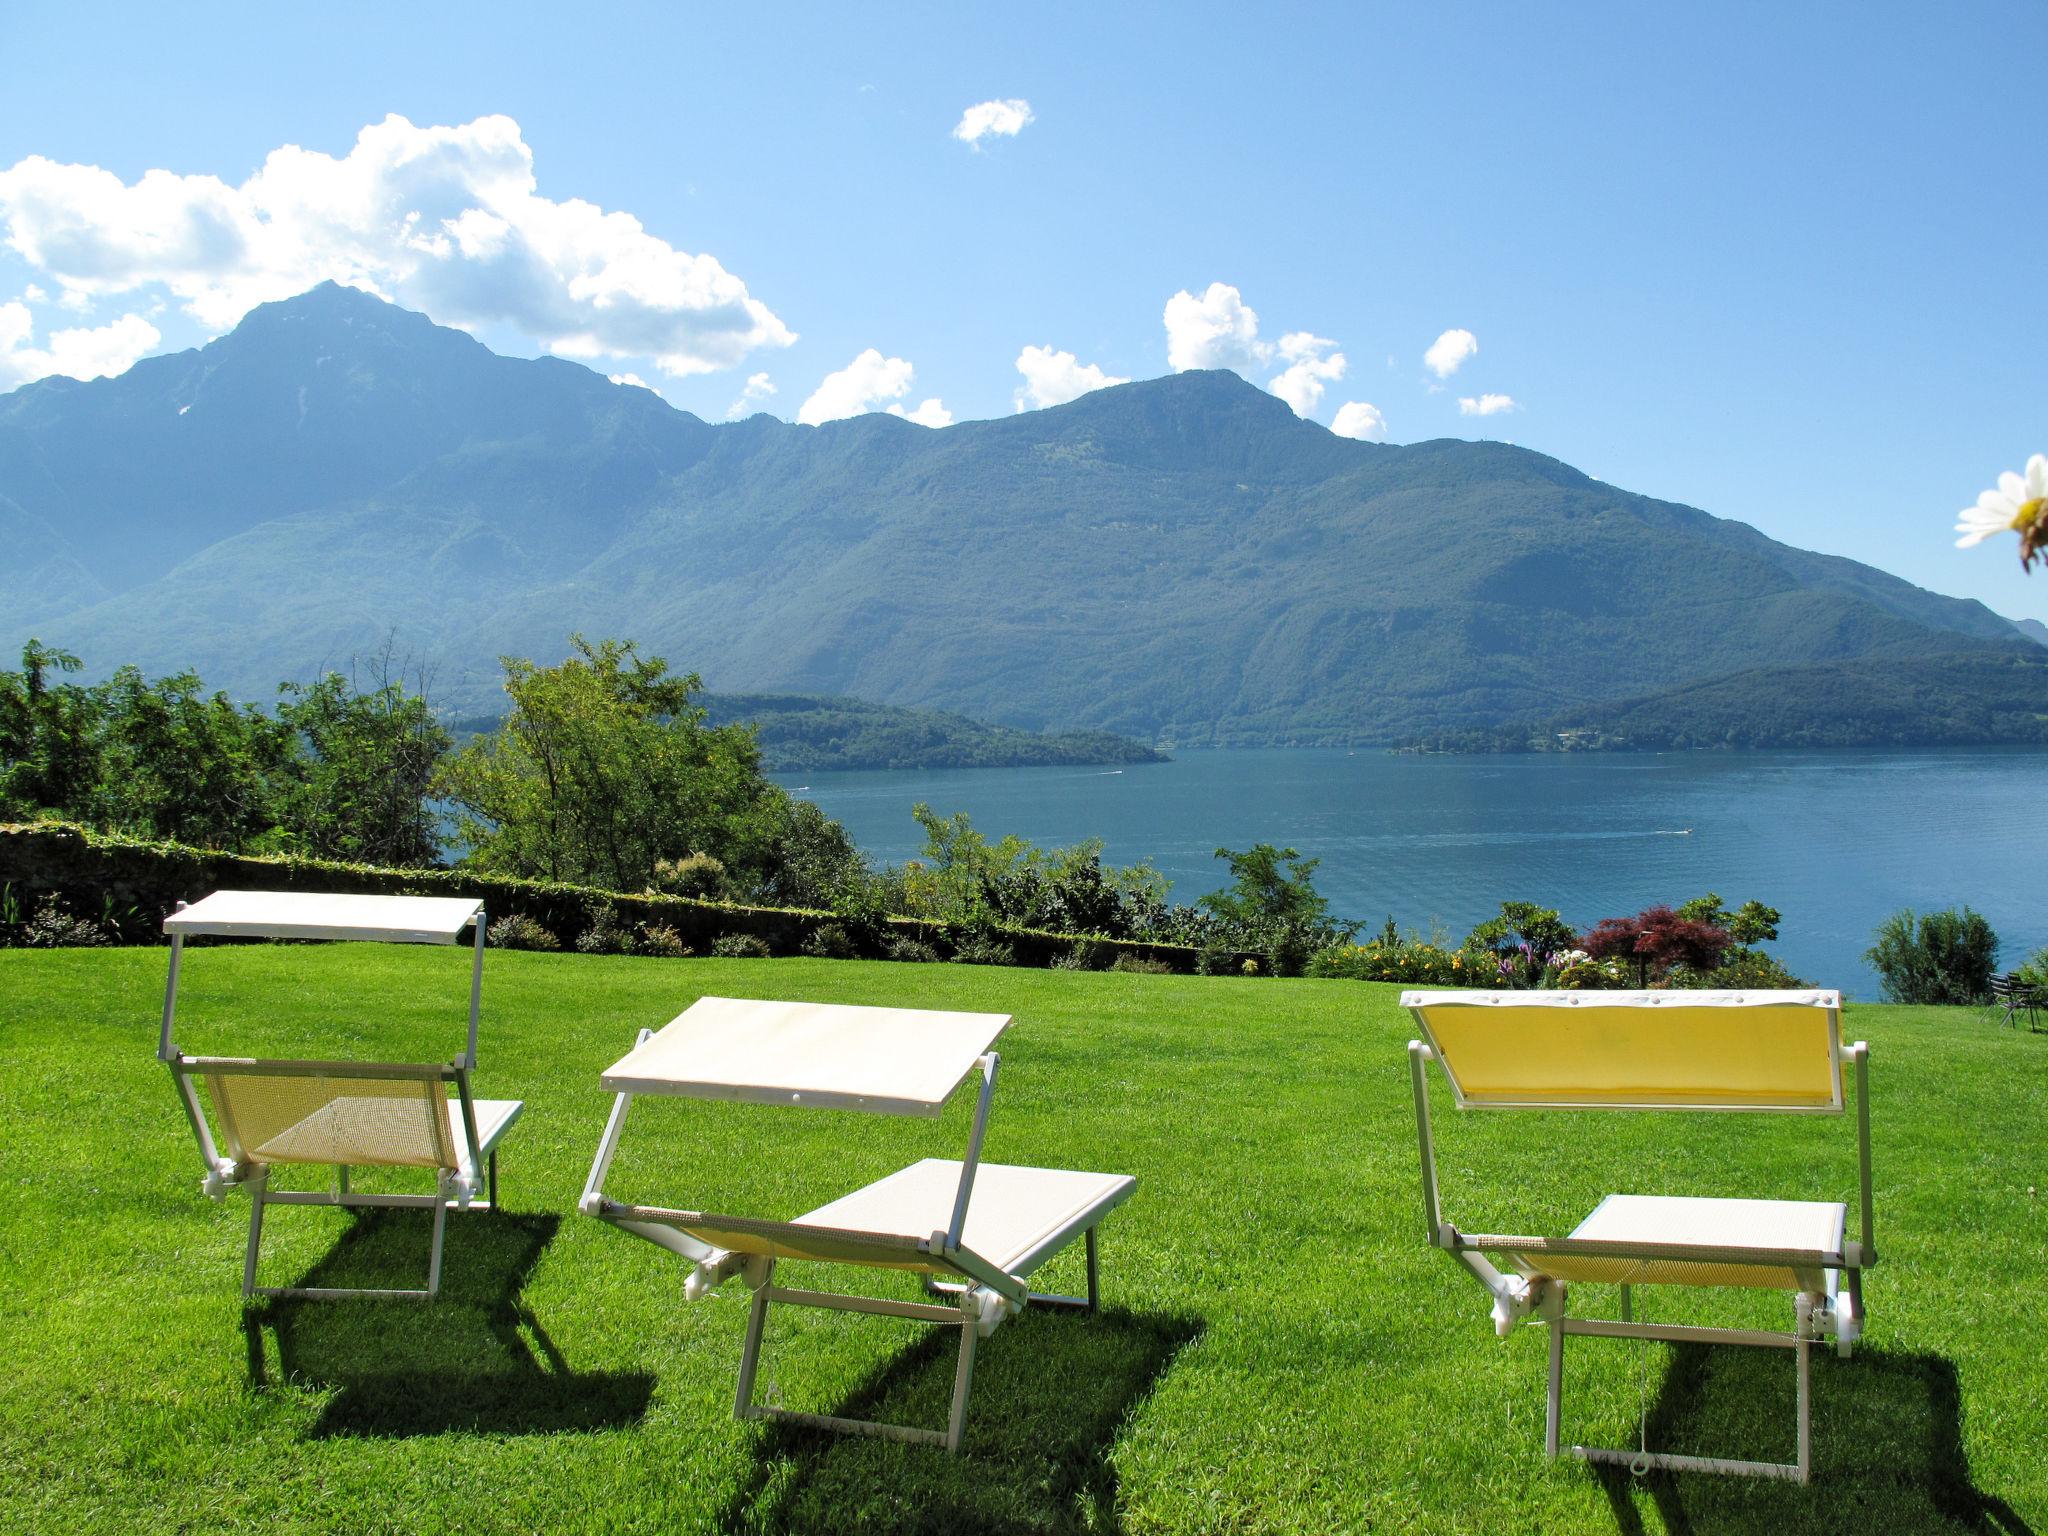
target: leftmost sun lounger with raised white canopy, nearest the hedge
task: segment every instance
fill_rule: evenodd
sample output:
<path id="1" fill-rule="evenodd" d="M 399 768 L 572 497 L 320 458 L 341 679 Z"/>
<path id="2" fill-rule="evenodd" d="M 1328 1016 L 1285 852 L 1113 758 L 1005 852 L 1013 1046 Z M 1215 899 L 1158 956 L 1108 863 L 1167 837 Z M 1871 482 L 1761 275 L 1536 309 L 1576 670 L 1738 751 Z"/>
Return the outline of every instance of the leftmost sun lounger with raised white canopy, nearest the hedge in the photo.
<path id="1" fill-rule="evenodd" d="M 455 944 L 475 928 L 469 971 L 469 1049 L 449 1063 L 276 1061 L 188 1057 L 172 1040 L 184 940 L 227 938 L 381 940 Z M 170 1067 L 178 1100 L 207 1165 L 205 1192 L 225 1200 L 250 1192 L 250 1239 L 242 1260 L 244 1296 L 393 1296 L 426 1300 L 440 1292 L 440 1241 L 449 1206 L 487 1210 L 498 1202 L 498 1143 L 524 1108 L 516 1100 L 469 1094 L 477 1065 L 477 1010 L 483 999 L 483 907 L 459 897 L 328 895 L 313 891 L 215 891 L 164 920 L 170 979 L 164 985 L 164 1032 L 158 1059 Z M 219 1141 L 199 1102 L 205 1083 Z M 449 1085 L 455 1085 L 455 1098 Z M 334 1190 L 272 1190 L 272 1163 L 326 1163 Z M 434 1194 L 356 1194 L 350 1167 L 434 1169 Z M 487 1200 L 475 1200 L 485 1190 Z M 336 1286 L 258 1286 L 264 1206 L 420 1206 L 434 1212 L 426 1290 L 352 1290 Z"/>

